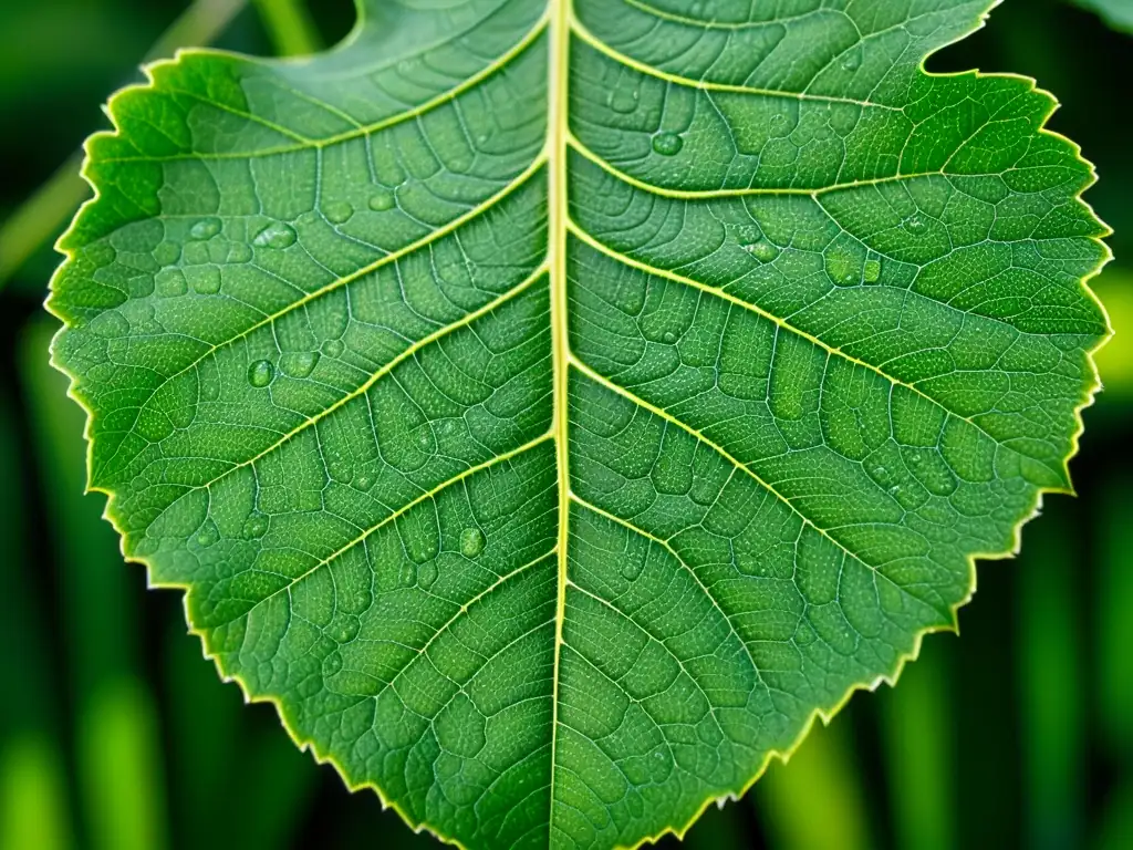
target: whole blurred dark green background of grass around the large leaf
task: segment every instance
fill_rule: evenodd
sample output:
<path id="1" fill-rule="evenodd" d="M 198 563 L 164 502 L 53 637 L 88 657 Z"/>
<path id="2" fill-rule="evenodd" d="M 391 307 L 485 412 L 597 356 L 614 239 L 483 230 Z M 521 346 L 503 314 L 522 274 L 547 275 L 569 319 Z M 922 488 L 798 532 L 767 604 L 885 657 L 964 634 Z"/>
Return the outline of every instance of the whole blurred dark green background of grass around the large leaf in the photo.
<path id="1" fill-rule="evenodd" d="M 1084 3 L 1133 20 L 1133 0 Z M 41 308 L 84 196 L 75 155 L 139 61 L 303 52 L 351 20 L 350 0 L 0 2 L 0 850 L 435 845 L 245 706 L 180 595 L 122 563 L 102 496 L 83 494 L 83 415 Z M 1081 496 L 1048 498 L 1016 561 L 980 564 L 962 639 L 929 637 L 898 688 L 858 695 L 690 847 L 1133 848 L 1133 36 L 1006 0 L 929 67 L 1036 77 L 1063 103 L 1050 127 L 1098 167 L 1088 199 L 1117 260 L 1094 288 L 1119 335 L 1072 464 Z"/>

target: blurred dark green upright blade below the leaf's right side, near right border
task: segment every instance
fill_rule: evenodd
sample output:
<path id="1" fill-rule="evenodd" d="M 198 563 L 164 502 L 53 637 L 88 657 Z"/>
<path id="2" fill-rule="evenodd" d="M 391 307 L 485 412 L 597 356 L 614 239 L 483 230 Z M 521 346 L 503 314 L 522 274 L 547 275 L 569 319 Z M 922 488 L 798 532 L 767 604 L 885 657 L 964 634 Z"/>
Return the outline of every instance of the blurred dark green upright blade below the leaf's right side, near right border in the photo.
<path id="1" fill-rule="evenodd" d="M 1082 844 L 1083 660 L 1073 541 L 1073 527 L 1051 511 L 1028 526 L 1019 568 L 1024 839 L 1034 850 Z"/>

